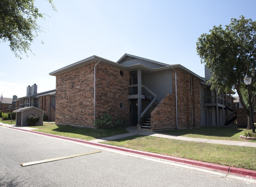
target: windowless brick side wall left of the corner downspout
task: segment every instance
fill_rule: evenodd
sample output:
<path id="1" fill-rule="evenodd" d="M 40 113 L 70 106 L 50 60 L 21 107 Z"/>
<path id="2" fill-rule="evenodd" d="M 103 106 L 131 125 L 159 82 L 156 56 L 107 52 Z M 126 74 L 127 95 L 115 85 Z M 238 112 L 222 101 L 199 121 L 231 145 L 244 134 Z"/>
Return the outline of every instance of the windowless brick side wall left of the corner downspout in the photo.
<path id="1" fill-rule="evenodd" d="M 56 124 L 94 125 L 94 65 L 56 76 Z"/>

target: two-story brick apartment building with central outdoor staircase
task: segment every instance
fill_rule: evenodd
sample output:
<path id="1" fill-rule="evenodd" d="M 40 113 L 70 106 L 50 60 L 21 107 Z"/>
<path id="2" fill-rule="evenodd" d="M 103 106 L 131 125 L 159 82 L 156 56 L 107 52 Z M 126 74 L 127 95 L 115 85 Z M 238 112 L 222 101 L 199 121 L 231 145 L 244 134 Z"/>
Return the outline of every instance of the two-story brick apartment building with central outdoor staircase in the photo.
<path id="1" fill-rule="evenodd" d="M 56 76 L 56 124 L 93 127 L 103 113 L 156 129 L 199 127 L 200 82 L 182 65 L 124 54 L 117 62 L 91 56 Z"/>

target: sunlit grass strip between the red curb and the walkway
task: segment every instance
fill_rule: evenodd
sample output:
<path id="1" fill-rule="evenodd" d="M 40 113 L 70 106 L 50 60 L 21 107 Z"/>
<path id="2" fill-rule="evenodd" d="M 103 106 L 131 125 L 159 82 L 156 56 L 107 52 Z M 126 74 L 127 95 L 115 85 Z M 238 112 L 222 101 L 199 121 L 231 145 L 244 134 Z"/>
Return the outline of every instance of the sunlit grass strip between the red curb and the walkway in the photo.
<path id="1" fill-rule="evenodd" d="M 256 148 L 212 143 L 186 142 L 136 135 L 102 142 L 152 153 L 256 170 Z"/>

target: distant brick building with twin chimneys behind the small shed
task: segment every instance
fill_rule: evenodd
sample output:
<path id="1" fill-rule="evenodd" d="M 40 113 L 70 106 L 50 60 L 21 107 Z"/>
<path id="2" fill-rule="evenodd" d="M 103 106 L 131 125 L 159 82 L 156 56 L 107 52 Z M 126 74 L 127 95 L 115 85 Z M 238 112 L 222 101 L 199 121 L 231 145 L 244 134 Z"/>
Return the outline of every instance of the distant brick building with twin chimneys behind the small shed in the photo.
<path id="1" fill-rule="evenodd" d="M 47 120 L 55 121 L 55 95 L 55 89 L 37 93 L 37 85 L 29 85 L 26 96 L 17 98 L 16 109 L 34 106 L 46 111 Z"/>

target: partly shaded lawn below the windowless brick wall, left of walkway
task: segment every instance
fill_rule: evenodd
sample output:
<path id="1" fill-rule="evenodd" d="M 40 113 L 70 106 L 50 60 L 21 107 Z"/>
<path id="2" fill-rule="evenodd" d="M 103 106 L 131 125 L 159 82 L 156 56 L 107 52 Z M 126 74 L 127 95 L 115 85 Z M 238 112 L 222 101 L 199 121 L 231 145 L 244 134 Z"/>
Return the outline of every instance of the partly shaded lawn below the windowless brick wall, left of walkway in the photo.
<path id="1" fill-rule="evenodd" d="M 73 127 L 70 125 L 56 125 L 55 123 L 44 123 L 43 126 L 34 126 L 34 128 L 37 129 L 33 131 L 56 134 L 70 138 L 78 138 L 81 140 L 94 140 L 128 133 L 126 129 L 120 129 L 116 127 L 105 129 L 89 129 L 84 127 Z"/>

